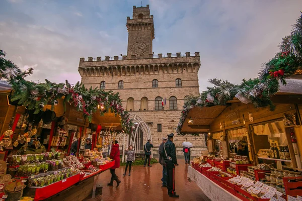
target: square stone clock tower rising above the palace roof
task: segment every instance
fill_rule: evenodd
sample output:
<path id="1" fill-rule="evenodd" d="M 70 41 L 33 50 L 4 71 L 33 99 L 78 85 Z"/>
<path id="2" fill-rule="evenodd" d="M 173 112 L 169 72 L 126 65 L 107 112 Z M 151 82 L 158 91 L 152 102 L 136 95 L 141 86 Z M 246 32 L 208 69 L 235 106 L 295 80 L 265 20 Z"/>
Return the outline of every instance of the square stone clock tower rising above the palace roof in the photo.
<path id="1" fill-rule="evenodd" d="M 128 49 L 127 58 L 149 58 L 154 37 L 153 15 L 150 16 L 149 5 L 136 8 L 133 6 L 132 19 L 127 17 Z"/>

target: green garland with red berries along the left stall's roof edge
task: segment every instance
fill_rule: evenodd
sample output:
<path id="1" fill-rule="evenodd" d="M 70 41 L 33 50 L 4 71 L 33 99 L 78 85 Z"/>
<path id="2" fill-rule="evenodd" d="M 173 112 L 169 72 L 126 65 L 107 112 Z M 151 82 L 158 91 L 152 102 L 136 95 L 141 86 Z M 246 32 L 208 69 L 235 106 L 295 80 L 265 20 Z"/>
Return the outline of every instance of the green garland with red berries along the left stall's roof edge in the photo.
<path id="1" fill-rule="evenodd" d="M 131 134 L 134 124 L 130 119 L 128 112 L 122 108 L 121 99 L 118 93 L 104 91 L 98 87 L 87 89 L 82 83 L 78 82 L 72 86 L 67 80 L 65 83 L 54 83 L 45 80 L 45 83 L 34 83 L 24 79 L 13 79 L 10 83 L 13 86 L 14 94 L 12 102 L 19 100 L 18 104 L 27 107 L 29 110 L 35 110 L 38 114 L 45 105 L 51 105 L 53 108 L 59 103 L 58 100 L 64 98 L 63 106 L 70 104 L 83 111 L 84 118 L 92 121 L 93 113 L 100 110 L 100 115 L 111 111 L 120 116 L 120 123 L 127 134 Z"/>

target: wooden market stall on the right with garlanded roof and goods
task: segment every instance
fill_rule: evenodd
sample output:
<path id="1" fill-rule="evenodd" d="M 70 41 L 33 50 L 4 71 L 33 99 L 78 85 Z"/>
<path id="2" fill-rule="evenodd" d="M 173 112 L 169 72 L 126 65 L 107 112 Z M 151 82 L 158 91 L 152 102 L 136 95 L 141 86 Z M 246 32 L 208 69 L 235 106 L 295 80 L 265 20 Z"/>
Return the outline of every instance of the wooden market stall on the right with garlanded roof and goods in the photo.
<path id="1" fill-rule="evenodd" d="M 302 44 L 291 40 L 302 36 L 301 26 L 302 16 L 259 78 L 239 85 L 212 79 L 212 87 L 187 98 L 177 132 L 207 132 L 208 147 L 208 154 L 194 158 L 188 177 L 226 199 L 232 196 L 224 191 L 241 200 L 302 195 L 302 52 L 290 48 Z"/>

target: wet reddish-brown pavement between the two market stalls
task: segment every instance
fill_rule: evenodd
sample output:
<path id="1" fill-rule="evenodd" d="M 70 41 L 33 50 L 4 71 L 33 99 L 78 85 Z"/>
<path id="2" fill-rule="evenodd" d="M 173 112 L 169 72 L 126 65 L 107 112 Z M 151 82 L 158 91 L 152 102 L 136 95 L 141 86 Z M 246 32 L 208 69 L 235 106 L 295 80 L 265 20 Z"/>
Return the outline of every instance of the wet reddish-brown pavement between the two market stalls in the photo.
<path id="1" fill-rule="evenodd" d="M 153 164 L 152 167 L 133 166 L 131 176 L 128 176 L 128 171 L 126 176 L 123 176 L 124 169 L 125 166 L 121 166 L 115 170 L 122 181 L 118 188 L 115 181 L 113 187 L 107 186 L 111 177 L 109 171 L 100 175 L 99 182 L 103 184 L 102 201 L 210 200 L 195 182 L 188 181 L 188 165 L 185 160 L 179 160 L 179 166 L 175 169 L 175 188 L 179 198 L 169 197 L 167 188 L 162 187 L 162 166 L 159 163 Z"/>

